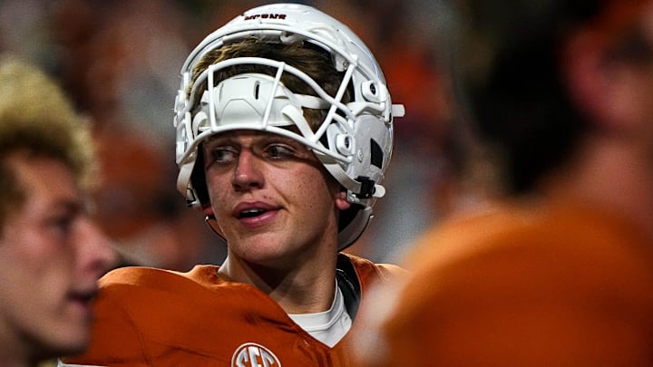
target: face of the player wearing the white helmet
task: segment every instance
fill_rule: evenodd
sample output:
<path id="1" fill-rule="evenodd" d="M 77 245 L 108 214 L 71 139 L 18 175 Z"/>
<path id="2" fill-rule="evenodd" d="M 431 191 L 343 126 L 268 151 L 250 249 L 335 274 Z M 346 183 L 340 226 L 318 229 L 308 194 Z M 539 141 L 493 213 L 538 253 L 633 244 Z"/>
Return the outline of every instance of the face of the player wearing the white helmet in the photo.
<path id="1" fill-rule="evenodd" d="M 203 144 L 211 207 L 229 256 L 295 266 L 316 250 L 336 253 L 337 213 L 346 193 L 297 140 L 256 130 Z"/>

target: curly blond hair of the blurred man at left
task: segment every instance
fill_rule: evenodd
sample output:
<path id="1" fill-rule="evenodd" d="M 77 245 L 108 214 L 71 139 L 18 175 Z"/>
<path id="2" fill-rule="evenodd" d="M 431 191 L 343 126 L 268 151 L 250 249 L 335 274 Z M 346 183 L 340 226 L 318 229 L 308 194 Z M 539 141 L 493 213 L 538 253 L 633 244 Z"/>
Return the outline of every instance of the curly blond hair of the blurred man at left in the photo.
<path id="1" fill-rule="evenodd" d="M 97 170 L 91 126 L 52 77 L 13 56 L 0 56 L 0 228 L 24 192 L 6 159 L 28 156 L 60 159 L 80 188 L 91 189 Z"/>

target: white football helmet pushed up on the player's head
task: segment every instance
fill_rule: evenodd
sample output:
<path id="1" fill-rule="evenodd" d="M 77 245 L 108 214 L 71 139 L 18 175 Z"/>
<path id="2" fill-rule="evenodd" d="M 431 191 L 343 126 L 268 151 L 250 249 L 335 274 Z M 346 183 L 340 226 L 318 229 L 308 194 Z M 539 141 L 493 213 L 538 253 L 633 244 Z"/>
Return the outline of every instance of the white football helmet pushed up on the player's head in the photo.
<path id="1" fill-rule="evenodd" d="M 286 63 L 258 57 L 238 57 L 210 65 L 191 81 L 193 66 L 211 50 L 255 36 L 270 43 L 313 43 L 331 53 L 344 79 L 329 95 L 308 75 Z M 236 64 L 268 65 L 270 76 L 244 73 L 213 82 L 214 72 Z M 311 86 L 316 96 L 290 92 L 280 82 L 289 72 Z M 206 82 L 206 83 L 205 83 Z M 189 86 L 193 87 L 189 91 Z M 206 87 L 197 91 L 199 86 Z M 354 101 L 343 102 L 353 87 Z M 201 96 L 200 101 L 194 101 Z M 311 129 L 302 107 L 324 109 L 327 117 Z M 385 77 L 374 56 L 345 24 L 307 5 L 275 4 L 253 8 L 207 36 L 181 68 L 181 85 L 175 101 L 177 129 L 177 188 L 189 204 L 201 208 L 190 176 L 200 142 L 227 130 L 265 130 L 298 140 L 313 150 L 325 168 L 347 190 L 354 204 L 341 223 L 338 245 L 351 245 L 363 233 L 375 199 L 385 193 L 384 179 L 393 147 L 393 116 L 403 116 L 404 106 L 393 105 Z M 288 130 L 295 125 L 297 129 Z M 343 219 L 341 218 L 341 221 Z"/>

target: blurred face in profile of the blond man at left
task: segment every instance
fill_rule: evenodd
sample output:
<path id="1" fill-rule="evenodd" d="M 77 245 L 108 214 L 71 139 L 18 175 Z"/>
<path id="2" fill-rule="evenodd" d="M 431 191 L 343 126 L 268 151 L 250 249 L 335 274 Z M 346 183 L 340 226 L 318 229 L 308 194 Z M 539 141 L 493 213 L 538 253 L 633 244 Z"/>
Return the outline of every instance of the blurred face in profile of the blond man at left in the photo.
<path id="1" fill-rule="evenodd" d="M 81 352 L 115 255 L 67 166 L 19 153 L 8 162 L 26 198 L 0 236 L 0 343 L 23 358 Z"/>

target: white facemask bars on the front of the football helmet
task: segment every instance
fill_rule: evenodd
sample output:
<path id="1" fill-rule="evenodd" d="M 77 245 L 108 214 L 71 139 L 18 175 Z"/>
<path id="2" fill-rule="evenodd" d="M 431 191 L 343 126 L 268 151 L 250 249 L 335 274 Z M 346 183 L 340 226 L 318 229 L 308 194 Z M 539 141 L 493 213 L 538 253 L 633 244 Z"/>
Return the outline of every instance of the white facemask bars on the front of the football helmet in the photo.
<path id="1" fill-rule="evenodd" d="M 220 69 L 238 65 L 238 64 L 261 64 L 267 65 L 277 69 L 276 75 L 274 77 L 274 86 L 271 91 L 271 95 L 268 98 L 268 105 L 266 106 L 266 111 L 261 119 L 261 121 L 251 121 L 251 122 L 240 122 L 237 125 L 229 123 L 228 125 L 219 124 L 219 121 L 216 120 L 216 101 L 214 100 L 214 92 L 205 92 L 203 97 L 206 98 L 208 94 L 208 103 L 201 102 L 205 105 L 208 105 L 209 111 L 199 111 L 194 115 L 190 112 L 192 106 L 195 104 L 195 98 L 198 95 L 196 88 L 204 81 L 207 81 L 207 91 L 214 91 L 218 86 L 214 86 L 213 75 L 216 71 Z M 319 141 L 322 136 L 326 133 L 328 126 L 332 123 L 337 123 L 338 126 L 343 128 L 346 133 L 354 135 L 354 121 L 359 114 L 364 112 L 374 111 L 380 113 L 385 111 L 385 100 L 380 102 L 375 101 L 358 101 L 351 103 L 341 102 L 343 95 L 346 92 L 346 88 L 351 80 L 353 72 L 356 70 L 356 64 L 350 63 L 346 69 L 343 82 L 340 84 L 340 88 L 336 92 L 336 96 L 332 97 L 327 92 L 325 92 L 312 78 L 310 78 L 305 72 L 301 72 L 295 67 L 292 67 L 286 63 L 258 58 L 258 57 L 242 57 L 225 60 L 223 62 L 215 63 L 210 65 L 206 71 L 202 72 L 197 78 L 196 82 L 193 85 L 192 90 L 190 91 L 190 101 L 187 101 L 183 110 L 183 116 L 185 117 L 184 121 L 178 123 L 178 133 L 186 134 L 187 137 L 194 137 L 190 142 L 190 147 L 178 147 L 178 164 L 184 166 L 187 163 L 194 161 L 194 154 L 197 151 L 200 142 L 210 135 L 223 132 L 226 130 L 236 130 L 236 129 L 251 129 L 251 130 L 264 130 L 269 132 L 274 132 L 282 136 L 300 141 L 305 144 L 309 149 L 312 149 L 316 152 L 317 157 L 325 164 L 327 169 L 334 175 L 334 177 L 345 186 L 350 192 L 358 193 L 360 192 L 361 183 L 357 182 L 355 179 L 350 178 L 344 169 L 340 167 L 336 161 L 342 163 L 350 163 L 353 157 L 351 155 L 346 156 L 339 154 L 336 150 L 329 150 Z M 283 72 L 290 72 L 300 78 L 302 81 L 307 82 L 307 84 L 317 92 L 319 98 L 309 95 L 299 95 L 289 92 L 285 87 L 280 83 L 280 78 Z M 242 75 L 242 74 L 241 74 Z M 289 101 L 298 101 L 295 109 L 284 108 L 282 111 L 287 117 L 297 126 L 301 134 L 297 134 L 293 131 L 280 128 L 278 126 L 273 126 L 269 123 L 269 115 L 271 113 L 273 101 L 275 101 L 275 93 L 279 90 L 279 86 L 286 92 L 286 95 L 289 97 Z M 327 112 L 327 117 L 322 121 L 318 126 L 319 128 L 314 132 L 310 126 L 307 124 L 306 120 L 303 117 L 301 107 L 307 108 L 320 108 L 324 106 L 330 106 L 329 111 Z M 395 107 L 395 106 L 393 106 Z M 203 109 L 206 110 L 206 109 Z M 336 113 L 341 111 L 345 116 L 341 116 Z M 208 116 L 207 113 L 208 112 Z M 180 114 L 178 114 L 179 118 Z M 210 121 L 209 128 L 206 128 L 206 120 Z M 288 123 L 289 125 L 290 123 Z M 204 128 L 201 129 L 200 126 L 203 125 Z M 236 126 L 236 127 L 235 127 Z M 181 131 L 183 130 L 183 131 Z M 178 139 L 179 140 L 179 139 Z M 188 141 L 188 139 L 184 140 Z M 183 154 L 181 154 L 183 153 Z M 187 168 L 187 170 L 190 169 Z M 189 172 L 190 174 L 190 172 Z M 185 176 L 185 175 L 184 175 Z M 385 189 L 380 185 L 376 185 L 377 189 L 375 190 L 375 197 L 383 196 Z"/>

